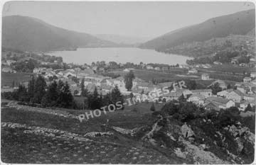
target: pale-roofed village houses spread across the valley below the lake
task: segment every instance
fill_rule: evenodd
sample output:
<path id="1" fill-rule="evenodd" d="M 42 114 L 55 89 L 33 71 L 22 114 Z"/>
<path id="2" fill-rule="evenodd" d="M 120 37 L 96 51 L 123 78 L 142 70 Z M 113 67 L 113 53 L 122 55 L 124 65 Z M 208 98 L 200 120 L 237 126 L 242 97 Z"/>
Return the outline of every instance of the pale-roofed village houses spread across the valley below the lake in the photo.
<path id="1" fill-rule="evenodd" d="M 10 60 L 6 61 L 7 63 L 12 63 Z M 146 70 L 168 70 L 168 67 L 153 67 L 150 64 L 142 64 L 142 68 Z M 132 90 L 127 91 L 125 88 L 124 76 L 117 76 L 112 78 L 110 76 L 102 76 L 98 74 L 97 70 L 104 72 L 104 68 L 91 67 L 85 65 L 81 67 L 73 67 L 70 64 L 70 69 L 52 69 L 46 67 L 36 67 L 33 69 L 33 74 L 36 76 L 43 76 L 46 79 L 46 83 L 50 84 L 53 80 L 61 80 L 63 82 L 67 81 L 70 85 L 71 93 L 73 96 L 81 96 L 80 84 L 84 82 L 84 86 L 89 92 L 93 92 L 96 88 L 98 93 L 105 95 L 112 91 L 115 86 L 119 88 L 121 93 L 124 96 L 129 96 L 131 93 L 133 96 L 142 97 L 142 94 L 148 94 L 150 91 L 154 91 L 159 88 L 171 87 L 174 84 L 174 81 L 167 81 L 154 84 L 151 81 L 145 81 L 139 77 L 135 77 L 132 80 Z M 187 68 L 188 74 L 198 74 L 196 67 L 197 65 L 191 68 L 189 65 L 180 65 L 179 68 Z M 202 67 L 207 67 L 203 65 Z M 133 71 L 133 68 L 126 68 L 122 72 L 128 73 Z M 2 72 L 4 70 L 2 69 Z M 248 105 L 250 107 L 255 106 L 256 98 L 256 72 L 251 72 L 250 76 L 245 76 L 243 82 L 236 82 L 233 89 L 228 88 L 228 84 L 225 81 L 217 79 L 210 84 L 218 84 L 221 90 L 218 93 L 213 94 L 212 89 L 172 89 L 170 93 L 167 93 L 164 96 L 159 98 L 154 98 L 153 101 L 163 103 L 171 100 L 178 100 L 181 96 L 186 98 L 187 101 L 191 101 L 198 106 L 203 106 L 206 109 L 215 109 L 220 110 L 220 108 L 230 108 L 232 106 L 238 107 L 240 110 L 244 111 Z M 208 81 L 210 75 L 207 73 L 201 74 L 202 81 Z M 21 82 L 24 86 L 28 86 L 28 81 Z M 9 86 L 2 86 L 2 92 L 4 91 L 13 91 L 18 89 L 18 87 L 10 88 Z"/>

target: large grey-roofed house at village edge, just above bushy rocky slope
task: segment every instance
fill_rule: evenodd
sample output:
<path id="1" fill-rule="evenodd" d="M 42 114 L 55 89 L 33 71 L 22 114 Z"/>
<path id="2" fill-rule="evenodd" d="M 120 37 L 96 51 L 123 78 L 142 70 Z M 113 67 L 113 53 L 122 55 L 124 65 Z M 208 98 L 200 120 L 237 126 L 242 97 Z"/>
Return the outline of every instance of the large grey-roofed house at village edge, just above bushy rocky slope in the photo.
<path id="1" fill-rule="evenodd" d="M 215 96 L 210 96 L 206 98 L 206 104 L 207 105 L 209 102 L 215 103 L 218 105 L 218 108 L 230 108 L 235 106 L 235 102 L 228 100 L 226 98 L 220 98 L 220 97 L 215 97 Z"/>

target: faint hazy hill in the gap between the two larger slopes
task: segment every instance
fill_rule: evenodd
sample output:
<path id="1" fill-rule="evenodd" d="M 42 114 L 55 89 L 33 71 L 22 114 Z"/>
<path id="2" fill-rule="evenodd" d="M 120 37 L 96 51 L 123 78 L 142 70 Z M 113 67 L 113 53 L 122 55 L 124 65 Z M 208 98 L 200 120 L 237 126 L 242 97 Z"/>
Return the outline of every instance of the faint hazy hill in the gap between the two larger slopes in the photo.
<path id="1" fill-rule="evenodd" d="M 137 45 L 151 39 L 151 38 L 139 38 L 135 36 L 112 35 L 112 34 L 98 34 L 95 36 L 102 40 L 110 40 L 117 44 L 124 44 L 124 45 Z"/>

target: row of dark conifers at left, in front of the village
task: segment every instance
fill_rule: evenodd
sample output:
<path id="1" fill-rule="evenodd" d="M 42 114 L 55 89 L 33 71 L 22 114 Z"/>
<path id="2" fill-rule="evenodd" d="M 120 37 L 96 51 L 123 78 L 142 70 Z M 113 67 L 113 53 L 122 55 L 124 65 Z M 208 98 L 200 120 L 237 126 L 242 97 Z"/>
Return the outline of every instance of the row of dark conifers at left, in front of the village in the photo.
<path id="1" fill-rule="evenodd" d="M 41 104 L 43 107 L 75 108 L 67 82 L 53 81 L 47 86 L 42 76 L 36 79 L 33 77 L 28 83 L 28 88 L 20 84 L 17 91 L 5 92 L 2 96 L 11 100 Z"/>

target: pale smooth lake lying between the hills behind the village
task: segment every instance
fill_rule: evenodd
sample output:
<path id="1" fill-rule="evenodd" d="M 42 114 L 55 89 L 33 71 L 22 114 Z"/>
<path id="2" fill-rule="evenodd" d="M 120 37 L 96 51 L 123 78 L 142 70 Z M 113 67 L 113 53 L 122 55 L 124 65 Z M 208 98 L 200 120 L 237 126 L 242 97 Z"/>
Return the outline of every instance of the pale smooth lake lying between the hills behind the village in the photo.
<path id="1" fill-rule="evenodd" d="M 170 55 L 155 50 L 144 50 L 137 47 L 94 47 L 78 48 L 76 51 L 48 52 L 48 55 L 63 57 L 63 62 L 74 64 L 91 64 L 92 62 L 105 61 L 134 64 L 159 63 L 159 64 L 186 64 L 185 57 L 181 55 Z"/>

